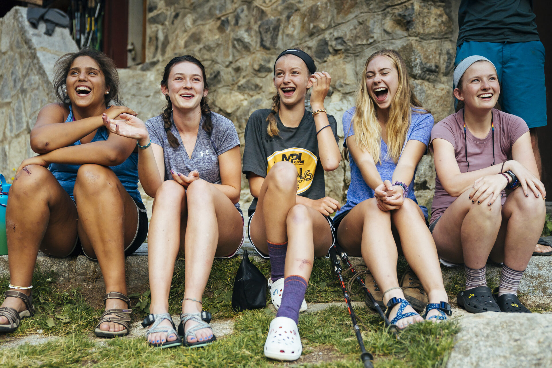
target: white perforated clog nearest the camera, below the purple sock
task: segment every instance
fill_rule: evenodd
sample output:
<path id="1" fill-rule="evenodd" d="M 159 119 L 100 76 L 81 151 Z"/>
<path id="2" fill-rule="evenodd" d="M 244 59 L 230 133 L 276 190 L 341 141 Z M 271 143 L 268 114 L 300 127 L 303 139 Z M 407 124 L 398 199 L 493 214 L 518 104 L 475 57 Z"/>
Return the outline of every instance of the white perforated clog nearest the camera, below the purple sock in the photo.
<path id="1" fill-rule="evenodd" d="M 303 347 L 295 321 L 288 317 L 276 317 L 270 322 L 264 356 L 275 360 L 297 360 Z"/>

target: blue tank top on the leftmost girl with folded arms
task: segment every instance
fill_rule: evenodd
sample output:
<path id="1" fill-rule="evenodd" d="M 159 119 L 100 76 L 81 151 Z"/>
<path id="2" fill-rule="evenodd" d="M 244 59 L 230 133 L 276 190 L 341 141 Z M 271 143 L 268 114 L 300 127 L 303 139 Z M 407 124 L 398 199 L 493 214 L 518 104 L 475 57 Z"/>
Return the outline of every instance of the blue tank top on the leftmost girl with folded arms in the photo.
<path id="1" fill-rule="evenodd" d="M 67 120 L 65 120 L 65 122 L 69 121 L 75 121 L 71 106 L 69 106 L 69 116 L 67 116 Z M 91 142 L 107 141 L 108 137 L 109 132 L 107 128 L 102 126 L 98 128 Z M 70 146 L 78 146 L 81 144 L 82 143 L 79 140 Z M 75 180 L 77 179 L 77 171 L 79 167 L 81 166 L 62 163 L 51 163 L 48 167 L 50 172 L 54 174 L 54 177 L 61 184 L 61 187 L 65 189 L 71 198 L 73 198 L 73 187 L 75 186 Z M 138 191 L 138 154 L 132 152 L 125 162 L 117 166 L 110 166 L 110 169 L 112 169 L 115 175 L 117 175 L 121 184 L 123 184 L 132 199 L 136 202 L 142 203 L 142 198 L 140 196 L 140 192 Z"/>

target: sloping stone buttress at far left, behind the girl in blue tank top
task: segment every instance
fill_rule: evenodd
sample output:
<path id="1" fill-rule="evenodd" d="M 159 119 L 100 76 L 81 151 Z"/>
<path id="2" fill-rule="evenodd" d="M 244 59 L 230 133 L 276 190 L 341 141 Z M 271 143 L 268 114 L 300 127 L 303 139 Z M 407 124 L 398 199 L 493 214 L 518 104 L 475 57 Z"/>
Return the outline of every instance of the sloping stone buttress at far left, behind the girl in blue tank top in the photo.
<path id="1" fill-rule="evenodd" d="M 57 58 L 77 51 L 67 29 L 44 35 L 33 29 L 26 8 L 15 7 L 0 19 L 0 173 L 11 179 L 23 159 L 34 156 L 30 130 L 39 110 L 55 101 L 52 74 Z"/>

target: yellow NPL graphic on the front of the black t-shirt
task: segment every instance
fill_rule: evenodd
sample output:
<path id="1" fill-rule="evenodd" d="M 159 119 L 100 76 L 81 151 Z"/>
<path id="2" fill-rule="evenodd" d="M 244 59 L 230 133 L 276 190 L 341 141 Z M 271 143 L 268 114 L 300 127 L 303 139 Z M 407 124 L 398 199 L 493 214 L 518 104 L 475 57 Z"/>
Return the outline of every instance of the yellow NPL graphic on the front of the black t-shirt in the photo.
<path id="1" fill-rule="evenodd" d="M 299 194 L 310 188 L 318 158 L 309 150 L 291 147 L 287 150 L 274 152 L 267 158 L 267 161 L 267 174 L 274 164 L 280 161 L 288 161 L 295 165 L 297 168 L 297 194 Z"/>

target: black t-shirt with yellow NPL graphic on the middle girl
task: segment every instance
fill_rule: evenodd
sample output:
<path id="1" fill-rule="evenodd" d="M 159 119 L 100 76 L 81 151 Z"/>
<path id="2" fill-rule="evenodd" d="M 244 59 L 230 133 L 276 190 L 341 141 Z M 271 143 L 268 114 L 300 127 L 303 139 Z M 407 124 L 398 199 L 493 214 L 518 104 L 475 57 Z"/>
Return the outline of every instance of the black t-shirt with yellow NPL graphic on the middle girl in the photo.
<path id="1" fill-rule="evenodd" d="M 254 111 L 245 127 L 245 150 L 243 151 L 243 173 L 249 178 L 254 173 L 266 178 L 270 168 L 280 161 L 288 161 L 297 168 L 297 194 L 310 199 L 326 196 L 324 169 L 320 163 L 316 126 L 312 113 L 305 110 L 298 127 L 287 127 L 276 115 L 279 135 L 271 137 L 267 133 L 267 116 L 270 109 Z M 336 138 L 337 124 L 332 115 L 328 122 Z M 326 128 L 328 129 L 328 128 Z M 257 207 L 257 198 L 253 199 L 248 214 L 251 216 Z"/>

